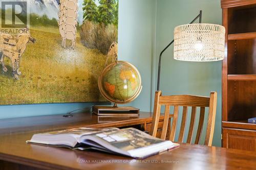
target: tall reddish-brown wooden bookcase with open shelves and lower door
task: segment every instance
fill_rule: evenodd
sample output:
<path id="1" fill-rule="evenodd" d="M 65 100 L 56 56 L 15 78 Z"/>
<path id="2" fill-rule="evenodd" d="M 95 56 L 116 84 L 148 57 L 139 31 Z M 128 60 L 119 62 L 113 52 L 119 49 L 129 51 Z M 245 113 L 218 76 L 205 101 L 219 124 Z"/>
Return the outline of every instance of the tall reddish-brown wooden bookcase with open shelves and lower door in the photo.
<path id="1" fill-rule="evenodd" d="M 226 28 L 222 63 L 222 146 L 255 151 L 256 0 L 222 0 Z"/>

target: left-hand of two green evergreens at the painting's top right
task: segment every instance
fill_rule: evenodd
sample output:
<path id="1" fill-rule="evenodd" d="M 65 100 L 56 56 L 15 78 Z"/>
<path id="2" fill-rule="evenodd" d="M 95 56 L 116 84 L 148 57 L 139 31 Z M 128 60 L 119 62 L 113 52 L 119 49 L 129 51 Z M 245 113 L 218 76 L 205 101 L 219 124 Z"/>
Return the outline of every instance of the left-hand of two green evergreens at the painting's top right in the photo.
<path id="1" fill-rule="evenodd" d="M 95 0 L 83 0 L 83 20 L 97 22 L 98 7 L 95 4 Z"/>

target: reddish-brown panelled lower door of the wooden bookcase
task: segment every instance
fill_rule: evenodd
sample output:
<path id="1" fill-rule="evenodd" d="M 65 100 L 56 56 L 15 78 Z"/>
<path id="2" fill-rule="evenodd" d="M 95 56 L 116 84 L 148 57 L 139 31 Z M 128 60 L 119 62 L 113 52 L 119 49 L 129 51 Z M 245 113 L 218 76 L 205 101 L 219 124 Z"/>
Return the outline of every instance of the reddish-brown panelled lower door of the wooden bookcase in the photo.
<path id="1" fill-rule="evenodd" d="M 222 128 L 222 145 L 246 151 L 256 151 L 256 131 Z"/>

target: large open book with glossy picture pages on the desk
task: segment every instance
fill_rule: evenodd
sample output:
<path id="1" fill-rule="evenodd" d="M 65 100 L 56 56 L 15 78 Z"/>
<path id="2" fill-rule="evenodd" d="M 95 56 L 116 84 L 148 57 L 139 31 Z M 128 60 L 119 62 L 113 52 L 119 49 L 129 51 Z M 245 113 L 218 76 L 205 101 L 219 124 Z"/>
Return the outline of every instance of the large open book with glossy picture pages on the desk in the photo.
<path id="1" fill-rule="evenodd" d="M 90 147 L 90 149 L 137 159 L 143 159 L 179 146 L 178 143 L 152 137 L 135 128 L 74 128 L 34 134 L 27 142 L 80 150 Z"/>

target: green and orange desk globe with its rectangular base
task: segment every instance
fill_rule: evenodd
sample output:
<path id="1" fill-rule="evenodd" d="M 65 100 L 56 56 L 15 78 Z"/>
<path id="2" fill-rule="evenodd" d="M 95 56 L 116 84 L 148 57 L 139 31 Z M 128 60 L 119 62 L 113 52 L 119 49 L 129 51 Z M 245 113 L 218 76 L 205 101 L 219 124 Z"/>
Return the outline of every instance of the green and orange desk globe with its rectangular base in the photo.
<path id="1" fill-rule="evenodd" d="M 103 115 L 139 113 L 139 109 L 134 107 L 117 107 L 117 104 L 126 104 L 135 100 L 142 89 L 140 73 L 131 63 L 115 61 L 106 66 L 99 77 L 98 86 L 104 98 L 115 105 L 114 107 L 94 107 L 94 113 L 98 115 L 100 113 Z"/>

